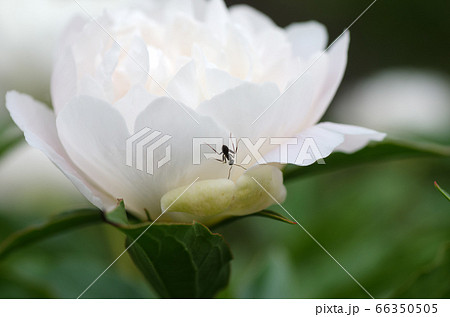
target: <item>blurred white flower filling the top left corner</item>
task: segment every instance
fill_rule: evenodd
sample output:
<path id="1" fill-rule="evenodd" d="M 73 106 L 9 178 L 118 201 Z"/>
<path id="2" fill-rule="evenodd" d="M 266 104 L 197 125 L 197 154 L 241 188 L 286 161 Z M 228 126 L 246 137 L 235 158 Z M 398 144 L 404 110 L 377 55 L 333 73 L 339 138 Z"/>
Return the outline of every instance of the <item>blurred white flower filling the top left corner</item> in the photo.
<path id="1" fill-rule="evenodd" d="M 92 14 L 119 0 L 77 0 Z M 61 30 L 74 16 L 84 12 L 73 0 L 0 1 L 0 95 L 18 89 L 50 101 L 48 87 L 53 52 Z M 4 100 L 0 102 L 0 116 Z"/>

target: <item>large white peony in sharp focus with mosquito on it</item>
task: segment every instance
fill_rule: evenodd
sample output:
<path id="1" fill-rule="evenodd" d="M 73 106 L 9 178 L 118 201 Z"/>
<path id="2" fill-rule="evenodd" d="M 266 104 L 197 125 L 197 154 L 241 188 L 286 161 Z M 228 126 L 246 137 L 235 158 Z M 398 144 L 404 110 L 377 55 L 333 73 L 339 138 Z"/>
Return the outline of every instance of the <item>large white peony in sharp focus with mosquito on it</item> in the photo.
<path id="1" fill-rule="evenodd" d="M 317 22 L 282 29 L 245 5 L 147 1 L 68 27 L 52 77 L 54 111 L 17 92 L 7 107 L 27 141 L 99 208 L 123 198 L 142 219 L 167 210 L 164 221 L 211 224 L 284 200 L 280 164 L 257 163 L 308 165 L 384 137 L 317 124 L 342 79 L 349 35 L 321 56 L 327 41 Z M 126 164 L 127 139 L 145 128 L 171 137 L 171 159 L 153 175 Z M 193 164 L 193 140 L 230 133 L 242 140 L 234 158 L 247 170 L 234 166 L 228 179 L 227 164 L 203 156 Z M 315 152 L 299 160 L 306 138 Z"/>

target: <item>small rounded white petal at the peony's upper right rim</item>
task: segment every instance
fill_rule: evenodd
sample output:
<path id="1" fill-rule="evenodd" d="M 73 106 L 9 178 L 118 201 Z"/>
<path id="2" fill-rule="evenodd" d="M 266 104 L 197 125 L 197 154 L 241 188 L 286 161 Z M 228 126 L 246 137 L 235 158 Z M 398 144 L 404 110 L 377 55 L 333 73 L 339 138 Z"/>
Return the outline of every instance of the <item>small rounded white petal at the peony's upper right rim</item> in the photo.
<path id="1" fill-rule="evenodd" d="M 328 43 L 326 28 L 316 21 L 292 23 L 286 31 L 294 54 L 304 60 L 322 52 Z"/>

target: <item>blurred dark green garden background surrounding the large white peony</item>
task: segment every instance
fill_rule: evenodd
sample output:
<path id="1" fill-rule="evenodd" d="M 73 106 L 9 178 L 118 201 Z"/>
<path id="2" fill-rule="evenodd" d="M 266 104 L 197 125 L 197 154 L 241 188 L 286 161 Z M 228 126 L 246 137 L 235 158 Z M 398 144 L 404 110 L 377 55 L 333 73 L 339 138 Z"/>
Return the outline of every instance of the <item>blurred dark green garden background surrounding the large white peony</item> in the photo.
<path id="1" fill-rule="evenodd" d="M 3 10 L 0 11 L 20 24 L 29 18 L 25 13 L 31 9 L 25 1 L 16 1 L 14 6 L 11 5 L 13 2 L 2 0 Z M 42 15 L 41 19 L 55 16 L 58 23 L 64 22 L 61 16 L 56 17 L 58 11 L 51 8 L 56 1 L 41 2 L 39 10 L 33 11 L 35 14 Z M 250 4 L 280 26 L 317 20 L 327 26 L 332 41 L 370 1 L 227 3 Z M 21 5 L 24 7 L 17 7 Z M 344 123 L 373 125 L 373 128 L 382 121 L 388 123 L 386 131 L 392 131 L 393 135 L 450 145 L 450 97 L 446 99 L 448 95 L 445 94 L 450 90 L 448 12 L 450 2 L 446 0 L 377 1 L 351 29 L 347 72 L 324 119 L 344 117 L 348 121 Z M 12 23 L 8 24 L 4 19 L 0 22 L 0 42 L 11 45 L 10 52 L 0 53 L 2 57 L 3 54 L 15 54 L 13 48 L 20 51 L 28 47 L 30 34 L 37 36 L 33 40 L 40 45 L 50 46 L 49 41 L 56 38 L 52 28 L 39 31 L 33 29 L 32 22 L 26 22 L 28 26 L 23 23 L 20 35 L 18 30 L 11 29 Z M 8 56 L 0 63 L 2 95 L 16 89 L 49 102 L 51 58 L 48 58 L 48 52 L 51 50 L 37 50 L 31 55 L 29 51 L 24 56 L 8 55 L 10 61 L 17 62 L 17 68 L 10 63 L 6 65 Z M 383 110 L 378 111 L 378 116 L 373 115 L 377 111 L 367 110 L 370 116 L 364 122 L 352 118 L 351 107 L 346 108 L 352 100 L 364 100 L 363 97 L 352 97 L 355 90 L 362 87 L 361 83 L 366 83 L 364 87 L 369 89 L 367 86 L 373 83 L 371 78 L 384 71 L 395 73 L 396 69 L 420 74 L 433 87 L 442 87 L 436 93 L 421 92 L 420 87 L 401 86 L 400 80 L 399 88 L 393 88 L 400 92 L 400 97 L 396 96 L 395 100 L 401 103 L 404 97 L 406 106 L 410 100 L 408 91 L 419 90 L 423 95 L 424 105 L 416 106 L 425 107 L 425 112 L 434 115 L 429 120 L 421 118 L 420 124 L 429 127 L 424 130 L 426 132 L 418 132 L 413 121 L 409 127 L 402 122 L 405 128 L 398 129 L 397 122 L 401 119 L 390 118 L 386 108 L 380 108 Z M 28 76 L 30 70 L 34 74 Z M 39 78 L 33 81 L 30 76 L 36 74 Z M 391 93 L 385 93 L 377 85 L 373 89 L 381 89 L 375 94 L 380 104 L 390 104 L 384 96 L 387 99 Z M 444 97 L 438 96 L 439 100 L 436 100 L 438 94 Z M 368 94 L 367 98 L 371 96 Z M 0 105 L 4 108 L 3 99 Z M 415 109 L 410 111 L 415 112 Z M 444 119 L 444 123 L 434 122 L 435 117 Z M 0 111 L 0 122 L 3 125 L 10 122 L 4 109 Z M 16 132 L 11 128 L 10 133 Z M 391 297 L 404 285 L 413 283 L 418 272 L 429 267 L 439 250 L 450 241 L 450 203 L 433 187 L 433 181 L 438 180 L 444 188 L 450 189 L 449 163 L 448 159 L 426 158 L 383 161 L 297 179 L 286 184 L 288 198 L 284 206 L 374 297 Z M 1 158 L 0 180 L 0 240 L 18 229 L 43 222 L 49 215 L 88 205 L 46 158 L 23 144 Z M 279 208 L 273 210 L 283 213 Z M 219 231 L 230 243 L 234 254 L 231 283 L 219 294 L 220 297 L 367 298 L 367 294 L 299 226 L 247 218 Z M 100 225 L 67 232 L 22 249 L 0 262 L 0 297 L 77 297 L 123 251 L 123 246 L 121 233 Z M 420 291 L 411 296 L 450 296 L 448 264 L 443 272 L 434 284 L 419 288 Z M 442 291 L 433 293 L 435 289 Z M 124 255 L 84 297 L 153 296 L 128 255 Z"/>

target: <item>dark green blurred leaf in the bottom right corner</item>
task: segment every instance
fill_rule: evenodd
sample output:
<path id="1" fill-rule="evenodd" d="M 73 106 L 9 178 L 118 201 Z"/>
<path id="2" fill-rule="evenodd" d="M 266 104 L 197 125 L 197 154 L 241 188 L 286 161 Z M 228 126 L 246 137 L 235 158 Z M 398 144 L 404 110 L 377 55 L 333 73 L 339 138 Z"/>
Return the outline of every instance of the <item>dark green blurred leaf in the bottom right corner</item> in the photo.
<path id="1" fill-rule="evenodd" d="M 393 298 L 450 298 L 450 242 L 436 260 L 421 270 Z"/>

